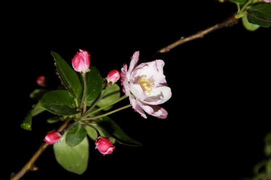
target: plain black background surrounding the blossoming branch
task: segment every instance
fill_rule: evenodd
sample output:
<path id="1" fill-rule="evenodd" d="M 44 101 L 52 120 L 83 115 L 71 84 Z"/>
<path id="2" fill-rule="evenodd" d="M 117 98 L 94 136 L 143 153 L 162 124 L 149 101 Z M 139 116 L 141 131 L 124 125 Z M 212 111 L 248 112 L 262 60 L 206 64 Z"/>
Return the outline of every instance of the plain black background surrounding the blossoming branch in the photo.
<path id="1" fill-rule="evenodd" d="M 39 88 L 37 76 L 48 76 L 52 86 L 60 84 L 50 50 L 70 62 L 79 48 L 86 49 L 90 65 L 104 77 L 128 64 L 134 51 L 147 57 L 236 11 L 235 4 L 214 0 L 43 2 L 7 7 L 2 47 L 5 179 L 28 161 L 47 131 L 60 125 L 46 123 L 50 113 L 45 112 L 33 119 L 32 131 L 20 127 L 36 103 L 29 94 Z M 252 175 L 255 163 L 264 158 L 263 137 L 271 131 L 266 105 L 269 42 L 269 28 L 250 32 L 239 22 L 150 59 L 165 61 L 172 97 L 161 106 L 168 118 L 148 115 L 144 119 L 132 108 L 110 115 L 143 146 L 116 143 L 114 153 L 103 156 L 90 141 L 89 166 L 82 175 L 64 170 L 50 146 L 35 163 L 39 170 L 22 179 L 239 179 Z M 116 106 L 127 103 L 124 99 Z"/>

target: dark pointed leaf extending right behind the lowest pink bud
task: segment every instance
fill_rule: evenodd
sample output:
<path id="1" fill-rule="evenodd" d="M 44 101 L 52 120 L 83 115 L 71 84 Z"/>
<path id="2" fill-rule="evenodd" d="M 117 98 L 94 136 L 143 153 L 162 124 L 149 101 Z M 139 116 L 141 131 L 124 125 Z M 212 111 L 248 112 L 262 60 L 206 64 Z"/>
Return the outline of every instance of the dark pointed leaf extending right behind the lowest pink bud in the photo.
<path id="1" fill-rule="evenodd" d="M 116 139 L 119 143 L 131 146 L 140 146 L 141 142 L 130 138 L 124 133 L 119 125 L 110 117 L 104 116 L 96 120 L 97 124 L 103 128 L 110 136 Z"/>

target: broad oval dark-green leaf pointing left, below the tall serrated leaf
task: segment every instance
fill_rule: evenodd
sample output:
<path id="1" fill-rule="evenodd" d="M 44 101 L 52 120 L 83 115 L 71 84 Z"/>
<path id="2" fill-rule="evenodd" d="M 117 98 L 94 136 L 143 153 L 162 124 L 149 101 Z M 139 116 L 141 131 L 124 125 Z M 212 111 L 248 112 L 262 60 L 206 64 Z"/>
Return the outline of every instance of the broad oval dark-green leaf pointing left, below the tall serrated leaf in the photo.
<path id="1" fill-rule="evenodd" d="M 41 106 L 58 115 L 72 115 L 79 113 L 74 97 L 67 90 L 52 90 L 44 94 Z"/>

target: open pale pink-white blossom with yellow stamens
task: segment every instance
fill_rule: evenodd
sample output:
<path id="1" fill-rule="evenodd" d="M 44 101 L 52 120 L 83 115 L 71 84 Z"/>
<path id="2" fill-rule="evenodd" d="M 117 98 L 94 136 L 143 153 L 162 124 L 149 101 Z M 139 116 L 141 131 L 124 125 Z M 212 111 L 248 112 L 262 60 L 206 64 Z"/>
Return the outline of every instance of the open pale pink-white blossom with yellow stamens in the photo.
<path id="1" fill-rule="evenodd" d="M 163 72 L 165 62 L 154 60 L 137 65 L 138 61 L 139 51 L 135 51 L 129 68 L 126 64 L 121 68 L 122 91 L 129 96 L 134 110 L 143 117 L 147 118 L 147 112 L 158 118 L 167 118 L 168 112 L 159 106 L 171 97 L 171 88 Z"/>

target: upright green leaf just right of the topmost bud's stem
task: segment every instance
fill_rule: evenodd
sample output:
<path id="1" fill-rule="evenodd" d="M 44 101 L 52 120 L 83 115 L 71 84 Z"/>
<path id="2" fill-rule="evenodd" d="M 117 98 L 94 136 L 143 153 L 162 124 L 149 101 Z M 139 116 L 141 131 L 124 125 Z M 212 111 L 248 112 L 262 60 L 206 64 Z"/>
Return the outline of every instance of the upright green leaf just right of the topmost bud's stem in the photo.
<path id="1" fill-rule="evenodd" d="M 90 67 L 90 72 L 86 74 L 87 90 L 86 104 L 90 106 L 99 96 L 102 90 L 102 77 L 100 71 L 95 67 Z"/>

